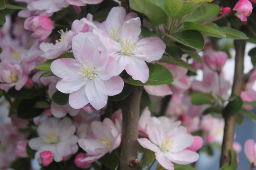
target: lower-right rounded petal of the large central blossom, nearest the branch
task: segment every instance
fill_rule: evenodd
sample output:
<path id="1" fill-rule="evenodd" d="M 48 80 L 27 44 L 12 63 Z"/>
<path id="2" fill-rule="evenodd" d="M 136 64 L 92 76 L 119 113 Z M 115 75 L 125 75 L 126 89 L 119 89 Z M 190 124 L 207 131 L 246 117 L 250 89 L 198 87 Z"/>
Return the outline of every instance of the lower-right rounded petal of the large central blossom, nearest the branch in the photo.
<path id="1" fill-rule="evenodd" d="M 111 77 L 109 80 L 104 81 L 104 84 L 109 96 L 121 93 L 124 87 L 124 81 L 120 76 Z"/>

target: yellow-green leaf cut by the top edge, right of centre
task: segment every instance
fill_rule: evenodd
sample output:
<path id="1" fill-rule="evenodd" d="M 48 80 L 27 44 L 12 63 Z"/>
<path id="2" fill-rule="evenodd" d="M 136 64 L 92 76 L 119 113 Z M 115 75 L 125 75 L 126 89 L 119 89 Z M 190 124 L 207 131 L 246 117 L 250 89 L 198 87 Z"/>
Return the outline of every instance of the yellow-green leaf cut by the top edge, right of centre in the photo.
<path id="1" fill-rule="evenodd" d="M 165 0 L 164 8 L 172 19 L 192 13 L 198 5 L 195 1 Z"/>

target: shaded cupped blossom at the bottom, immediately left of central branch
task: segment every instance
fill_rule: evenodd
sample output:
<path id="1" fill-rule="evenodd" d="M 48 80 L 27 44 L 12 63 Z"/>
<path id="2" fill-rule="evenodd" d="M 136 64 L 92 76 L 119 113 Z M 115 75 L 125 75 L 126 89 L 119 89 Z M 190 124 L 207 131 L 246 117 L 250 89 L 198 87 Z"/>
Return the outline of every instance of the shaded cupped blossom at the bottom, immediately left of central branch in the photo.
<path id="1" fill-rule="evenodd" d="M 97 161 L 106 153 L 111 153 L 119 147 L 121 143 L 121 133 L 119 120 L 116 119 L 114 124 L 109 118 L 103 122 L 93 121 L 91 131 L 94 138 L 79 139 L 78 144 L 90 156 L 84 158 L 82 162 L 91 163 Z"/>

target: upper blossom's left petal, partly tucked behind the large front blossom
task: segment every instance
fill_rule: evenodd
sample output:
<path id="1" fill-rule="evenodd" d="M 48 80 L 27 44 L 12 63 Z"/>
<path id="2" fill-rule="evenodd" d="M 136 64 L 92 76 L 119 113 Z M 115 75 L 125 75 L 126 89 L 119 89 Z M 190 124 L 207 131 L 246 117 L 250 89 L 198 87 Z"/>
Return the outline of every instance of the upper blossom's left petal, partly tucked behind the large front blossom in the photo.
<path id="1" fill-rule="evenodd" d="M 109 52 L 115 53 L 121 51 L 121 45 L 118 42 L 112 40 L 107 32 L 99 28 L 95 28 L 93 29 L 93 33 L 100 37 L 101 42 L 105 45 L 106 49 Z"/>

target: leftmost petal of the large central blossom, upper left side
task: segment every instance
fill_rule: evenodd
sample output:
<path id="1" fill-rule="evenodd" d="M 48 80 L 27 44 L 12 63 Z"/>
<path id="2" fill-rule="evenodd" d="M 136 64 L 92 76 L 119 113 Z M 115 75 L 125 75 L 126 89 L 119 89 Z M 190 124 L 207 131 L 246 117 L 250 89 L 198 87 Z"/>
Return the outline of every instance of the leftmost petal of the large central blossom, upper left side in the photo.
<path id="1" fill-rule="evenodd" d="M 64 78 L 70 73 L 79 73 L 79 69 L 82 65 L 79 65 L 75 59 L 56 59 L 51 64 L 52 72 L 61 78 Z"/>

